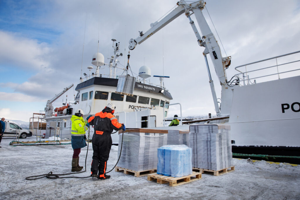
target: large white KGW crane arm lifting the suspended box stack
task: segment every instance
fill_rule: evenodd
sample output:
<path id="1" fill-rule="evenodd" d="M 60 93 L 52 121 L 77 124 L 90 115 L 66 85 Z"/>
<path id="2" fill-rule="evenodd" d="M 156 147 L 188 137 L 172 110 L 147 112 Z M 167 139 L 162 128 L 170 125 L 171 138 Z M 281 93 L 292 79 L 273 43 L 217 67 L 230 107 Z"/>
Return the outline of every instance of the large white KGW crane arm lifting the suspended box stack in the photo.
<path id="1" fill-rule="evenodd" d="M 196 35 L 198 44 L 200 46 L 205 47 L 203 55 L 205 58 L 206 67 L 208 70 L 208 76 L 209 76 L 209 84 L 211 87 L 211 93 L 214 100 L 214 107 L 217 113 L 217 116 L 220 116 L 220 109 L 217 101 L 216 92 L 214 89 L 214 83 L 211 79 L 211 74 L 207 62 L 206 55 L 209 53 L 211 56 L 211 60 L 214 64 L 214 69 L 216 71 L 216 74 L 220 80 L 220 85 L 222 86 L 222 99 L 226 99 L 225 106 L 222 107 L 222 115 L 229 115 L 230 107 L 231 107 L 231 99 L 232 99 L 232 93 L 228 90 L 228 84 L 227 84 L 227 78 L 225 69 L 228 68 L 230 65 L 230 59 L 231 57 L 225 57 L 222 58 L 220 46 L 217 43 L 217 40 L 214 37 L 214 34 L 211 32 L 211 29 L 209 28 L 202 10 L 205 7 L 205 2 L 203 0 L 196 1 L 191 4 L 187 4 L 184 0 L 181 0 L 177 3 L 178 7 L 176 7 L 173 11 L 171 11 L 167 16 L 165 16 L 161 21 L 154 22 L 150 26 L 151 28 L 143 33 L 143 31 L 140 32 L 140 36 L 136 39 L 130 39 L 129 40 L 129 49 L 133 50 L 137 44 L 142 43 L 146 39 L 148 39 L 150 36 L 155 34 L 157 31 L 159 31 L 161 28 L 163 28 L 165 25 L 176 19 L 178 16 L 180 16 L 182 13 L 185 13 L 187 18 L 190 21 L 190 25 Z M 197 28 L 194 24 L 194 21 L 190 18 L 190 15 L 194 14 L 196 17 L 196 20 L 198 22 L 199 28 L 202 33 L 202 37 L 200 36 L 199 32 L 197 31 Z M 224 109 L 223 109 L 224 108 Z M 223 112 L 224 111 L 224 112 Z"/>

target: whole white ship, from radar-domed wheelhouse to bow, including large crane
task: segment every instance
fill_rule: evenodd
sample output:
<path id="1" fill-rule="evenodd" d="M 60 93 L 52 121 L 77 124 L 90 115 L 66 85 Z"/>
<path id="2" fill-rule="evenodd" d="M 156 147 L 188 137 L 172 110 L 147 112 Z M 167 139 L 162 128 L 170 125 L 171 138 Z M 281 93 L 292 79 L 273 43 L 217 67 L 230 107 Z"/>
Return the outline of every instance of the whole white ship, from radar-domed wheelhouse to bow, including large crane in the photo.
<path id="1" fill-rule="evenodd" d="M 183 122 L 180 115 L 179 126 L 164 127 L 164 119 L 169 106 L 172 105 L 169 104 L 172 96 L 162 84 L 163 77 L 160 85 L 147 83 L 145 79 L 150 75 L 147 73 L 149 70 L 142 67 L 139 72 L 141 76 L 134 81 L 132 94 L 120 93 L 117 91 L 120 78 L 115 71 L 117 58 L 121 54 L 117 53 L 118 45 L 113 45 L 114 56 L 111 57 L 109 64 L 101 61 L 103 55 L 97 53 L 93 56 L 92 63 L 94 62 L 96 72 L 80 79 L 80 83 L 76 86 L 78 94 L 73 102 L 55 109 L 57 111 L 54 112 L 51 103 L 56 97 L 48 101 L 43 118 L 47 121 L 46 135 L 70 135 L 70 116 L 76 109 L 83 109 L 85 116 L 88 116 L 101 111 L 107 103 L 113 102 L 117 106 L 116 117 L 128 128 L 189 130 L 188 124 L 191 123 L 226 123 L 231 127 L 230 142 L 232 152 L 235 154 L 277 156 L 275 161 L 278 162 L 288 162 L 289 158 L 298 157 L 300 51 L 237 66 L 235 67 L 237 74 L 230 79 L 226 75 L 226 70 L 230 66 L 231 57 L 222 57 L 217 40 L 202 14 L 204 7 L 205 2 L 202 0 L 190 4 L 183 0 L 179 1 L 177 7 L 168 15 L 158 22 L 151 23 L 148 31 L 145 33 L 141 31 L 136 39 L 131 39 L 129 49 L 133 50 L 137 44 L 141 44 L 184 13 L 195 33 L 197 43 L 204 49 L 203 55 L 217 117 Z M 202 36 L 192 16 L 196 18 Z M 217 99 L 211 78 L 208 54 L 222 88 L 220 99 Z M 101 66 L 110 67 L 110 74 L 107 77 L 99 73 Z M 118 139 L 113 138 L 113 142 L 118 142 Z M 292 163 L 299 163 L 299 159 Z"/>

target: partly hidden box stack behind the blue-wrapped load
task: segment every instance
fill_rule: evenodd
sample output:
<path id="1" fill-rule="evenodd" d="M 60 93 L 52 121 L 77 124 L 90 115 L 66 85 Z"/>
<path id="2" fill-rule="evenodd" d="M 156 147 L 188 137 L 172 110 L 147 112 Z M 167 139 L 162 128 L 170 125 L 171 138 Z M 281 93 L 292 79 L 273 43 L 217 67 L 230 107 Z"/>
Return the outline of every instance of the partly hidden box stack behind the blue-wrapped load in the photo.
<path id="1" fill-rule="evenodd" d="M 167 145 L 187 145 L 189 146 L 189 131 L 168 130 Z"/>

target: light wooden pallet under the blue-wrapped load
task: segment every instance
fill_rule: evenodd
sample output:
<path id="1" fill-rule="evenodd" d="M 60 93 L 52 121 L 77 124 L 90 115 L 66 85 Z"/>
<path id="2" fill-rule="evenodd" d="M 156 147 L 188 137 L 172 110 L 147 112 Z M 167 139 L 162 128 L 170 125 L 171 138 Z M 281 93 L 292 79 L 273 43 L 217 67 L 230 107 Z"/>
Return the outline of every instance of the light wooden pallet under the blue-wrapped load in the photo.
<path id="1" fill-rule="evenodd" d="M 196 178 L 192 178 L 192 176 L 196 176 Z M 193 174 L 182 176 L 182 177 L 164 176 L 161 174 L 154 173 L 154 174 L 148 174 L 147 177 L 148 181 L 153 181 L 156 179 L 157 183 L 159 184 L 164 184 L 169 182 L 169 186 L 171 187 L 196 181 L 199 180 L 200 178 L 201 178 L 201 172 L 193 172 Z"/>

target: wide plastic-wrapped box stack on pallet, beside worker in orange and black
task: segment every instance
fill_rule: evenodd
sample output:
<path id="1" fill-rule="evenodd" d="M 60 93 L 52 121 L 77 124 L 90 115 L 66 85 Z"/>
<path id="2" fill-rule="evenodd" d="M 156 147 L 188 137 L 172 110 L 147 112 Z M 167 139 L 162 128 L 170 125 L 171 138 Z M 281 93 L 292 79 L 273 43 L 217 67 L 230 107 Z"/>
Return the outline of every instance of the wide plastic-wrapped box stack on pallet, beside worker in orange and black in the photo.
<path id="1" fill-rule="evenodd" d="M 120 154 L 122 132 L 119 132 Z M 129 129 L 124 132 L 122 153 L 118 167 L 134 171 L 157 168 L 157 149 L 167 145 L 167 130 Z"/>

